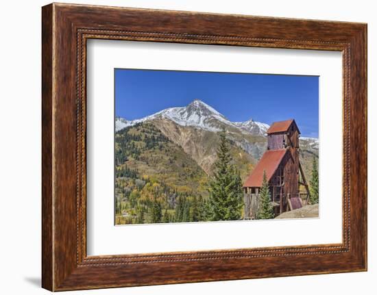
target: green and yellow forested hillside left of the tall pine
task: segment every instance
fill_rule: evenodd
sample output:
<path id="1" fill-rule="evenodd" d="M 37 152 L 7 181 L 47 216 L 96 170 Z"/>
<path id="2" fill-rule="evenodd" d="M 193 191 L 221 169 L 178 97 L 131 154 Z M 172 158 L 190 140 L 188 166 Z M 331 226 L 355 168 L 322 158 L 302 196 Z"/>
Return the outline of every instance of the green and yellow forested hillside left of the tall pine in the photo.
<path id="1" fill-rule="evenodd" d="M 118 131 L 115 159 L 117 224 L 195 220 L 189 209 L 208 195 L 208 176 L 153 124 Z"/>

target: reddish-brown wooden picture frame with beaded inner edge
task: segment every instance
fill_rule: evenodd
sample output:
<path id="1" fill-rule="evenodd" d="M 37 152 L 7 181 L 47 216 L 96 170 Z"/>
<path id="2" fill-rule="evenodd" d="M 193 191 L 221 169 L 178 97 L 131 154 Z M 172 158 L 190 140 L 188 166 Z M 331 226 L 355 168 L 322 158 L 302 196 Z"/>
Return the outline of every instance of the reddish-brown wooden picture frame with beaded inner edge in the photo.
<path id="1" fill-rule="evenodd" d="M 341 51 L 343 242 L 87 257 L 88 38 Z M 90 5 L 43 7 L 42 287 L 60 291 L 366 270 L 366 69 L 367 25 L 361 23 Z"/>

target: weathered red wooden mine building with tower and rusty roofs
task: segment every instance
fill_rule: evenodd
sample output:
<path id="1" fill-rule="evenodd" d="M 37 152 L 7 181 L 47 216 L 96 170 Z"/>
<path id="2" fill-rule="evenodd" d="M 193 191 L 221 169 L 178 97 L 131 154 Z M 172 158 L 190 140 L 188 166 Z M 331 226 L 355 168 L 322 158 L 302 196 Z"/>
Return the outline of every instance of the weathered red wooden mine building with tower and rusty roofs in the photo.
<path id="1" fill-rule="evenodd" d="M 299 159 L 299 137 L 300 130 L 293 119 L 275 122 L 267 130 L 267 151 L 243 184 L 245 219 L 256 218 L 263 172 L 276 215 L 302 207 L 300 184 L 306 188 L 308 198 L 308 185 Z"/>

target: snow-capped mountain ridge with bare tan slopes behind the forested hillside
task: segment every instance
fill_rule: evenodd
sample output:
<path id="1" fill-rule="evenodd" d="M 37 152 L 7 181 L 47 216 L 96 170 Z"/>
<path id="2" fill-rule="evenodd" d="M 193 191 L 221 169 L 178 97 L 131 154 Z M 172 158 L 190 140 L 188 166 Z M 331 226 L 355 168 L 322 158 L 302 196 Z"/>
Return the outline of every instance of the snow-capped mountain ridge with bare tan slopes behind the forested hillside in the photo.
<path id="1" fill-rule="evenodd" d="M 152 123 L 170 140 L 178 144 L 202 169 L 209 173 L 215 162 L 217 134 L 225 129 L 227 137 L 240 149 L 254 158 L 256 163 L 267 149 L 268 124 L 254 121 L 230 122 L 226 116 L 195 99 L 185 107 L 169 107 L 141 119 L 125 120 L 117 118 L 117 132 L 141 123 Z M 317 138 L 300 138 L 302 155 L 317 155 L 319 141 Z M 308 169 L 306 167 L 305 170 Z"/>

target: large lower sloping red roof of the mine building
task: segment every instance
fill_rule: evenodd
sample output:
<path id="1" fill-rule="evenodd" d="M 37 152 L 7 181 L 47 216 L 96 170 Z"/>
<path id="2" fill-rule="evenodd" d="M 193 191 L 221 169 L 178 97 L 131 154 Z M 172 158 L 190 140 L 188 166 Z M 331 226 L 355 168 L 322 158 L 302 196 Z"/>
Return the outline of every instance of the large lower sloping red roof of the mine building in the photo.
<path id="1" fill-rule="evenodd" d="M 262 158 L 254 168 L 252 174 L 247 177 L 245 183 L 243 183 L 244 188 L 260 188 L 263 183 L 263 171 L 266 171 L 267 181 L 271 179 L 273 174 L 282 159 L 287 153 L 288 149 L 276 149 L 265 151 Z"/>

